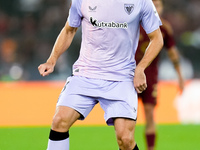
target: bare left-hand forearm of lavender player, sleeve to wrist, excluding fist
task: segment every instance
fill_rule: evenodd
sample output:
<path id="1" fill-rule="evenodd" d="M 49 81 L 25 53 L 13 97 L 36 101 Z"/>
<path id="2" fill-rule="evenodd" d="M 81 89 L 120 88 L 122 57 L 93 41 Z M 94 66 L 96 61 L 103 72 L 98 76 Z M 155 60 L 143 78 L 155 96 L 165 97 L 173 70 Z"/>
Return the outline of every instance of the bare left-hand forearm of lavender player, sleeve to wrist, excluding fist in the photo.
<path id="1" fill-rule="evenodd" d="M 77 28 L 69 27 L 68 24 L 65 25 L 56 39 L 51 55 L 47 60 L 48 63 L 53 65 L 56 64 L 60 55 L 62 55 L 71 45 L 76 30 Z"/>

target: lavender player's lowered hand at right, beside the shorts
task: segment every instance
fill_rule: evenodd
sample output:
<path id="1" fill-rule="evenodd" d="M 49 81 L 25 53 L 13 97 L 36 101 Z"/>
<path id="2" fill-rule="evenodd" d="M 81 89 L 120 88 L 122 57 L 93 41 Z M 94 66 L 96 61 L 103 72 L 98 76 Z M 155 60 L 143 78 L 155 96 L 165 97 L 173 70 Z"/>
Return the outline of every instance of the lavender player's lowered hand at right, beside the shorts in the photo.
<path id="1" fill-rule="evenodd" d="M 136 68 L 133 83 L 137 93 L 142 93 L 144 90 L 146 90 L 146 75 L 143 70 Z"/>

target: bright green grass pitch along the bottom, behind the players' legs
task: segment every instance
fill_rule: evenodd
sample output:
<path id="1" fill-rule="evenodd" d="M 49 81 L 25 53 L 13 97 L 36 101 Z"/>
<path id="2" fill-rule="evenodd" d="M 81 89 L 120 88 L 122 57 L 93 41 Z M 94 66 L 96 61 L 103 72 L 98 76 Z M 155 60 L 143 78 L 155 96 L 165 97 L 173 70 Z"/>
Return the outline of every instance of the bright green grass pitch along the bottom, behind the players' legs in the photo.
<path id="1" fill-rule="evenodd" d="M 0 128 L 0 150 L 46 150 L 50 127 Z M 145 150 L 144 126 L 137 125 L 135 139 Z M 156 150 L 200 150 L 200 125 L 157 125 Z M 75 126 L 70 130 L 70 150 L 118 150 L 114 128 Z"/>

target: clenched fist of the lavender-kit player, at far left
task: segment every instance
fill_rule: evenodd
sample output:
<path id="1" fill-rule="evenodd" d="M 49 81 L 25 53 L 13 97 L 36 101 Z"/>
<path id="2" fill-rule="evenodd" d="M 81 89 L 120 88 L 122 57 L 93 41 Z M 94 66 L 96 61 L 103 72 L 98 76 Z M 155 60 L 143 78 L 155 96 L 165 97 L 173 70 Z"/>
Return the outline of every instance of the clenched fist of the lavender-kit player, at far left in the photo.
<path id="1" fill-rule="evenodd" d="M 54 71 L 54 65 L 51 63 L 44 63 L 38 67 L 39 73 L 41 76 L 47 76 Z"/>

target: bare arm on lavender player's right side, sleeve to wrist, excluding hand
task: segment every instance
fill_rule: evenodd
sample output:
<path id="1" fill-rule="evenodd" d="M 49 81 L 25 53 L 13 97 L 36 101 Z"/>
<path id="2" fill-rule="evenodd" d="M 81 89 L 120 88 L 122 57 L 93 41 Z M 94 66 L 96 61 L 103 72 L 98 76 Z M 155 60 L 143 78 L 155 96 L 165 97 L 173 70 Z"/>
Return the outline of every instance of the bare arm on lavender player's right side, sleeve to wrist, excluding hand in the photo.
<path id="1" fill-rule="evenodd" d="M 145 70 L 151 64 L 151 62 L 158 55 L 158 53 L 163 47 L 163 38 L 160 29 L 149 34 L 149 38 L 150 38 L 150 43 L 146 49 L 144 57 L 142 58 L 142 60 L 140 61 L 140 63 L 137 65 L 136 68 L 140 69 L 141 71 Z"/>

